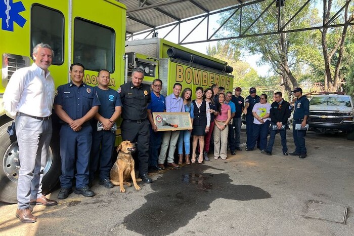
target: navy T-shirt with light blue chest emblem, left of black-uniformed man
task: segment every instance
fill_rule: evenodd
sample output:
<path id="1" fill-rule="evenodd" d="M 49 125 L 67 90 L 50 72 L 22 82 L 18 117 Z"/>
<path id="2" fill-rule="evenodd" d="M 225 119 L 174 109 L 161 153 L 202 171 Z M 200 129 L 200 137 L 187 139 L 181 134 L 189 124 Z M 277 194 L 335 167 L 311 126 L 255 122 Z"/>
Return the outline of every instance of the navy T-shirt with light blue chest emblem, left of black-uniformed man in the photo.
<path id="1" fill-rule="evenodd" d="M 108 90 L 100 89 L 98 86 L 95 88 L 98 98 L 101 102 L 101 106 L 98 109 L 98 113 L 104 118 L 110 119 L 110 117 L 115 112 L 115 107 L 122 106 L 120 96 L 117 91 L 111 88 L 109 88 Z"/>

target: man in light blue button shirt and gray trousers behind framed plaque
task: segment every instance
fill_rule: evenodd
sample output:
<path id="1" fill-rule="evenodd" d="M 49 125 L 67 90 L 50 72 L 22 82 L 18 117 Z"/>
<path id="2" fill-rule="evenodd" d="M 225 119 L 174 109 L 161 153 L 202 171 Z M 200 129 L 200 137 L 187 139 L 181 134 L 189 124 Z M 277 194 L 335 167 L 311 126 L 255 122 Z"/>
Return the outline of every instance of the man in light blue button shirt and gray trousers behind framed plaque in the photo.
<path id="1" fill-rule="evenodd" d="M 182 91 L 182 85 L 180 83 L 175 83 L 173 85 L 173 93 L 165 98 L 166 112 L 185 112 L 185 106 L 183 104 L 183 98 L 180 97 Z M 174 150 L 176 149 L 176 144 L 178 137 L 180 136 L 180 131 L 165 131 L 162 136 L 161 150 L 158 160 L 158 166 L 164 168 L 164 162 L 166 159 L 166 153 L 169 146 L 168 156 L 167 156 L 167 166 L 171 166 L 175 169 L 179 168 L 179 165 L 174 163 Z"/>

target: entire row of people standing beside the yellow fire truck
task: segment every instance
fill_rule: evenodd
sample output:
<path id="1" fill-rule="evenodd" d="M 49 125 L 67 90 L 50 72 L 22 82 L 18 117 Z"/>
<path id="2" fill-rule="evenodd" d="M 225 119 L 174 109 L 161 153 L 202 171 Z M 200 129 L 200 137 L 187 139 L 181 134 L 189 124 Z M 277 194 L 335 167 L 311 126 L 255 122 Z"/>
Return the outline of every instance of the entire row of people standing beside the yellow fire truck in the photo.
<path id="1" fill-rule="evenodd" d="M 48 69 L 54 56 L 52 48 L 40 43 L 34 47 L 32 56 L 34 63 L 31 66 L 21 68 L 12 75 L 3 98 L 7 115 L 15 120 L 20 149 L 16 217 L 21 222 L 36 222 L 30 205 L 57 205 L 56 201 L 47 199 L 41 191 L 52 137 L 53 108 L 61 123 L 61 189 L 58 199 L 66 199 L 72 193 L 73 186 L 76 194 L 94 196 L 95 192 L 90 188 L 96 174 L 99 175 L 100 185 L 113 187 L 109 173 L 113 164 L 116 121 L 120 116 L 122 140 L 137 143 L 139 177 L 144 183 L 152 182 L 148 175 L 149 168 L 164 169 L 166 156 L 167 166 L 173 168 L 179 168 L 184 160 L 187 165 L 209 161 L 212 139 L 214 159 L 226 160 L 228 146 L 231 154 L 235 155 L 236 150 L 242 150 L 242 113 L 246 114 L 247 121 L 246 150 L 252 150 L 259 143 L 262 151 L 271 154 L 275 134 L 279 131 L 283 153 L 287 153 L 283 126 L 290 116 L 291 108 L 280 92 L 275 94 L 275 102 L 270 105 L 267 95 L 258 97 L 255 88 L 250 89 L 250 95 L 244 100 L 240 87 L 235 89 L 233 95 L 232 92 L 220 92 L 218 85 L 213 85 L 205 90 L 197 87 L 195 99 L 192 100 L 193 91 L 190 88 L 182 91 L 182 84 L 175 83 L 173 93 L 164 97 L 160 94 L 162 81 L 156 79 L 151 86 L 143 84 L 144 71 L 140 68 L 132 71 L 130 82 L 115 91 L 108 86 L 110 73 L 105 69 L 98 72 L 98 86 L 84 84 L 84 66 L 80 63 L 71 64 L 71 81 L 55 90 Z M 308 115 L 308 100 L 302 96 L 300 88 L 293 92 L 298 98 L 295 102 L 294 125 L 303 127 Z M 192 129 L 158 132 L 153 112 L 189 112 Z M 268 146 L 267 126 L 275 127 L 271 129 Z M 293 129 L 296 150 L 290 154 L 304 158 L 305 132 L 295 130 L 295 126 Z M 176 145 L 178 164 L 174 162 Z"/>

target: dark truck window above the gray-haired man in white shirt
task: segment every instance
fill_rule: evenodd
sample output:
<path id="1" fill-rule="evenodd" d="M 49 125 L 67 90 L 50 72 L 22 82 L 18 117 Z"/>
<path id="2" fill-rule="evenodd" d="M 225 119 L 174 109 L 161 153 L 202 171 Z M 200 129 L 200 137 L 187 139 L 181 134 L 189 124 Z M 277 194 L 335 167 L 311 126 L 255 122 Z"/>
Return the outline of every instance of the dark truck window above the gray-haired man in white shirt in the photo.
<path id="1" fill-rule="evenodd" d="M 64 15 L 54 9 L 35 4 L 31 9 L 31 51 L 39 43 L 49 44 L 54 57 L 52 64 L 64 62 Z"/>

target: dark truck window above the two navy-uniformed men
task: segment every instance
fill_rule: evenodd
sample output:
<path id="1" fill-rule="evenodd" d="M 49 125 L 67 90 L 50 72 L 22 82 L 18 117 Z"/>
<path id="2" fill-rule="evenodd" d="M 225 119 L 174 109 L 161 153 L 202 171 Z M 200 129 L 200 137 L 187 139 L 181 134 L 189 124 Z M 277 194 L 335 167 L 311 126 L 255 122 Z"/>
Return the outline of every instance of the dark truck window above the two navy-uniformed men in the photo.
<path id="1" fill-rule="evenodd" d="M 81 63 L 85 69 L 99 71 L 107 69 L 114 72 L 113 29 L 81 18 L 74 20 L 74 62 Z"/>

